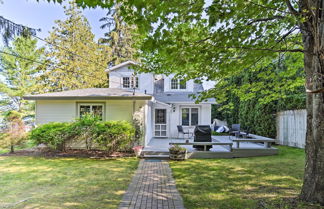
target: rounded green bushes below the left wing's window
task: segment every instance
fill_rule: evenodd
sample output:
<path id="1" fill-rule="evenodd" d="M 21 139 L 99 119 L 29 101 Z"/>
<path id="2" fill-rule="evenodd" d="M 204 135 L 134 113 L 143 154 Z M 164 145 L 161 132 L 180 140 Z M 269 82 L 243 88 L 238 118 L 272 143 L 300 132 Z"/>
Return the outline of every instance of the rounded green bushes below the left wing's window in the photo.
<path id="1" fill-rule="evenodd" d="M 100 148 L 108 154 L 127 150 L 132 146 L 135 128 L 126 121 L 100 121 L 84 116 L 72 123 L 48 123 L 31 131 L 29 139 L 34 144 L 46 144 L 54 150 L 64 150 L 66 143 L 84 142 L 87 150 Z"/>

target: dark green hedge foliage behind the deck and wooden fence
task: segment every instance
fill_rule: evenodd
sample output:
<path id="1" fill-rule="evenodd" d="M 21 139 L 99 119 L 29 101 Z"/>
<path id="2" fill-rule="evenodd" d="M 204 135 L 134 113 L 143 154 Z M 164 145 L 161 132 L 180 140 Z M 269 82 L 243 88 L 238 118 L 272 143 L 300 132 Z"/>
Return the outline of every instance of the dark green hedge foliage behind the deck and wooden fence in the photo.
<path id="1" fill-rule="evenodd" d="M 230 125 L 240 123 L 251 133 L 276 137 L 276 113 L 304 109 L 306 105 L 304 75 L 295 59 L 296 56 L 285 56 L 279 63 L 275 60 L 264 68 L 246 70 L 217 83 L 217 88 L 223 89 L 223 99 L 213 107 L 213 117 Z M 274 94 L 271 90 L 275 88 Z"/>

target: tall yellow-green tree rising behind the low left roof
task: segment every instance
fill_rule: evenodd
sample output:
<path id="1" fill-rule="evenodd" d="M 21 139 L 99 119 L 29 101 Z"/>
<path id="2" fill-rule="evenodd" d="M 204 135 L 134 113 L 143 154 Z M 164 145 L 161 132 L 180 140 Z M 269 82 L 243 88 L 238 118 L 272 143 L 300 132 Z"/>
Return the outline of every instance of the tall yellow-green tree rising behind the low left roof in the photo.
<path id="1" fill-rule="evenodd" d="M 88 20 L 73 2 L 64 7 L 66 19 L 57 20 L 46 38 L 48 68 L 40 76 L 40 90 L 62 91 L 108 85 L 105 69 L 109 48 L 97 44 Z"/>

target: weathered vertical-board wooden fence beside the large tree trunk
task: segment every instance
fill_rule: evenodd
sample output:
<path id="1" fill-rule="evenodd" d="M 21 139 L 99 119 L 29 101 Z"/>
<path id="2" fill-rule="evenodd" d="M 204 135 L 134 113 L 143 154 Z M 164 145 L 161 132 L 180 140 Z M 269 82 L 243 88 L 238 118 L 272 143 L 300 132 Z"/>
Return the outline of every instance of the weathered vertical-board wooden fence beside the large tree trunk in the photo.
<path id="1" fill-rule="evenodd" d="M 288 110 L 277 113 L 277 143 L 305 147 L 306 110 Z"/>

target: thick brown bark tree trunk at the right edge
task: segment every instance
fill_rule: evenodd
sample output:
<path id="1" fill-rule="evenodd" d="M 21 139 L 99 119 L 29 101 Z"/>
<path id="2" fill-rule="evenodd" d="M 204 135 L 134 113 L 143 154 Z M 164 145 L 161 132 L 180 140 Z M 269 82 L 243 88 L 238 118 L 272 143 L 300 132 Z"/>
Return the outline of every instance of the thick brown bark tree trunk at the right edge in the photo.
<path id="1" fill-rule="evenodd" d="M 306 88 L 324 87 L 324 25 L 303 25 Z M 306 164 L 301 198 L 324 205 L 324 93 L 307 93 Z"/>

